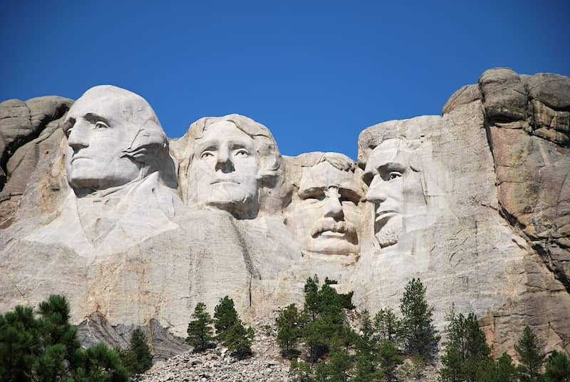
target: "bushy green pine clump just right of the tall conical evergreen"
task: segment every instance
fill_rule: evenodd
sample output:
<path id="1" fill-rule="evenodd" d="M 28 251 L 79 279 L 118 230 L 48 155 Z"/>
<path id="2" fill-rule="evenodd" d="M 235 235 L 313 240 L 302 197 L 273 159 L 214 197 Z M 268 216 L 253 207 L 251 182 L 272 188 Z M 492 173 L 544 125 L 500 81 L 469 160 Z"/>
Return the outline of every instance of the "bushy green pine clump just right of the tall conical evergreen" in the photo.
<path id="1" fill-rule="evenodd" d="M 440 369 L 442 381 L 480 381 L 493 362 L 477 316 L 456 315 L 452 308 L 447 319 L 450 324 Z"/>

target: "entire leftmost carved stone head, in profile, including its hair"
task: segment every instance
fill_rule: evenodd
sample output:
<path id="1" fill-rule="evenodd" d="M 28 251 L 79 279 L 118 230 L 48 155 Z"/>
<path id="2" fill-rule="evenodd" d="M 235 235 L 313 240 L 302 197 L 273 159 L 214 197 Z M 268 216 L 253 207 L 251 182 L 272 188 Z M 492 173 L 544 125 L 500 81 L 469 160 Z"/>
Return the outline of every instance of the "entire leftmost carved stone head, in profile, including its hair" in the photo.
<path id="1" fill-rule="evenodd" d="M 150 105 L 115 86 L 86 91 L 69 110 L 63 131 L 67 178 L 76 192 L 125 185 L 172 162 Z"/>

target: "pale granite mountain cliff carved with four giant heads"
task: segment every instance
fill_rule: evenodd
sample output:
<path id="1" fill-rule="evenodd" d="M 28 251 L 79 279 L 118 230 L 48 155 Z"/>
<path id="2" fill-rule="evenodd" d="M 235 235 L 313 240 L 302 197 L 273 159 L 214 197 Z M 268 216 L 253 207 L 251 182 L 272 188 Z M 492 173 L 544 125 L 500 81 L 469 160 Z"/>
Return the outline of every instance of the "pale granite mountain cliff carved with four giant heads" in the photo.
<path id="1" fill-rule="evenodd" d="M 358 160 L 281 155 L 242 115 L 169 139 L 115 86 L 0 103 L 0 311 L 64 294 L 86 344 L 145 326 L 184 348 L 202 301 L 252 319 L 336 279 L 359 309 L 398 310 L 420 277 L 473 311 L 494 354 L 525 325 L 570 351 L 570 78 L 483 73 L 441 116 L 364 129 Z"/>

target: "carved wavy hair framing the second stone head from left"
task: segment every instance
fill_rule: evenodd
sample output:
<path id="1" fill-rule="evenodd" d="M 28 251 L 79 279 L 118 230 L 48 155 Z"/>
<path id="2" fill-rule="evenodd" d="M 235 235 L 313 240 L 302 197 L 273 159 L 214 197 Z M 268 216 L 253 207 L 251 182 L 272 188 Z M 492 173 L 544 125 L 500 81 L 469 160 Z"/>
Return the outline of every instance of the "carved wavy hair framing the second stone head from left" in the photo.
<path id="1" fill-rule="evenodd" d="M 259 179 L 268 177 L 276 177 L 279 175 L 279 167 L 281 167 L 281 153 L 277 148 L 277 143 L 271 135 L 268 128 L 261 123 L 257 123 L 251 118 L 244 117 L 243 115 L 231 114 L 219 118 L 202 118 L 198 120 L 195 125 L 190 129 L 190 142 L 191 145 L 196 140 L 202 139 L 204 132 L 208 130 L 209 126 L 214 123 L 228 121 L 234 124 L 236 128 L 242 130 L 254 140 L 254 147 L 259 155 Z M 190 155 L 190 164 L 194 159 L 194 150 Z"/>

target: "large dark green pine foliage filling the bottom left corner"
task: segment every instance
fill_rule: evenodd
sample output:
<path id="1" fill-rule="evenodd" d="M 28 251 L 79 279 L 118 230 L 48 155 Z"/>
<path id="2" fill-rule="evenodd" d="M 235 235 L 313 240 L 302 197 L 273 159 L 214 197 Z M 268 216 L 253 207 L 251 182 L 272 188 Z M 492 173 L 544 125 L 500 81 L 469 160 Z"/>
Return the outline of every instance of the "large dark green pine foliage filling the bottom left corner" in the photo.
<path id="1" fill-rule="evenodd" d="M 69 324 L 63 296 L 50 296 L 33 309 L 16 306 L 0 315 L 0 380 L 18 382 L 127 381 L 118 354 L 104 344 L 81 349 Z"/>

